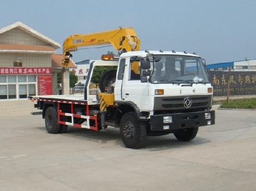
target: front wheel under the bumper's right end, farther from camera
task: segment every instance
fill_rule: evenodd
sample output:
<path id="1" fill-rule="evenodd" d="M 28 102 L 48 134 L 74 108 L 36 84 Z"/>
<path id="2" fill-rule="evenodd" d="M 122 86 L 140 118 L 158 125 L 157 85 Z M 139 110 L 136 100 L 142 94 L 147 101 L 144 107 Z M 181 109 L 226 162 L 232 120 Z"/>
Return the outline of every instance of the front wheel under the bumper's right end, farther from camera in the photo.
<path id="1" fill-rule="evenodd" d="M 190 141 L 197 136 L 198 127 L 179 129 L 174 136 L 181 141 Z"/>

